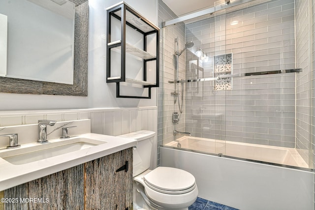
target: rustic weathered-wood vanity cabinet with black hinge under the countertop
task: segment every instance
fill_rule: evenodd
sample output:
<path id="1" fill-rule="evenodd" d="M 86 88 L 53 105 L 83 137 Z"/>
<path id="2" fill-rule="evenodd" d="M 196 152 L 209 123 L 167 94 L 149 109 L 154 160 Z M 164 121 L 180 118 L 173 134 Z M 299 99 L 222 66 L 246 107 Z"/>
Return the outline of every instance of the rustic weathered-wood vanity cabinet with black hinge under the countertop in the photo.
<path id="1" fill-rule="evenodd" d="M 18 202 L 4 203 L 0 210 L 131 210 L 132 148 L 2 193 Z"/>

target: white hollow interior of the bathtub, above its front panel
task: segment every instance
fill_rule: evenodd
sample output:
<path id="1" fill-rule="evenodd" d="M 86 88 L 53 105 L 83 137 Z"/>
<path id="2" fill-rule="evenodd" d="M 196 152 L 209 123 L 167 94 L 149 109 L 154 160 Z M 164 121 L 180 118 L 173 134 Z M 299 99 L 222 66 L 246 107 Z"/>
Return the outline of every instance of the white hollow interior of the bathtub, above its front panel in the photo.
<path id="1" fill-rule="evenodd" d="M 183 136 L 165 146 L 177 148 L 178 144 L 180 144 L 182 149 L 187 150 L 212 154 L 221 153 L 231 157 L 308 168 L 308 164 L 300 156 L 297 150 L 293 148 L 221 141 L 190 136 Z"/>

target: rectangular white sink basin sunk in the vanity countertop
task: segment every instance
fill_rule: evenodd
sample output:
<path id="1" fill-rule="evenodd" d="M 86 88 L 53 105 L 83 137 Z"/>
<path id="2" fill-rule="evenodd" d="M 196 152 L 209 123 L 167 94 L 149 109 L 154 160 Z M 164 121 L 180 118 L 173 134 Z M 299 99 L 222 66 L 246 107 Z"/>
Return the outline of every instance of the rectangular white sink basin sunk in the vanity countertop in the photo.
<path id="1" fill-rule="evenodd" d="M 21 165 L 77 150 L 84 150 L 105 143 L 107 142 L 90 138 L 74 137 L 67 140 L 42 144 L 33 143 L 26 148 L 7 150 L 1 152 L 0 157 L 11 164 Z"/>

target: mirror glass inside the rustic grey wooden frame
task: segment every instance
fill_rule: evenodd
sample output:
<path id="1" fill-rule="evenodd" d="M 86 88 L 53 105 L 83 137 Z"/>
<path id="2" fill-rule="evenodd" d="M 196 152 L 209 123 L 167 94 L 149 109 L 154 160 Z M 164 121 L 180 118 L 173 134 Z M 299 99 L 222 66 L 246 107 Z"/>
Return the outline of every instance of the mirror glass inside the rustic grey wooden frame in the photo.
<path id="1" fill-rule="evenodd" d="M 74 15 L 67 0 L 0 0 L 0 17 L 7 17 L 0 76 L 72 85 Z"/>

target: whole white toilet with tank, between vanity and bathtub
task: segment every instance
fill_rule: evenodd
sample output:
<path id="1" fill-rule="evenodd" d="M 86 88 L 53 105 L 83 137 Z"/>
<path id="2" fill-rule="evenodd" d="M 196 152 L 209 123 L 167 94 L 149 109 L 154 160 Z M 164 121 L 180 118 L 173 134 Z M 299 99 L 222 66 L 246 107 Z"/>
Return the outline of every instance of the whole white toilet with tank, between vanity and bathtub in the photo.
<path id="1" fill-rule="evenodd" d="M 149 169 L 155 135 L 140 130 L 120 136 L 138 141 L 133 150 L 133 209 L 188 210 L 198 195 L 195 178 L 177 168 Z"/>

